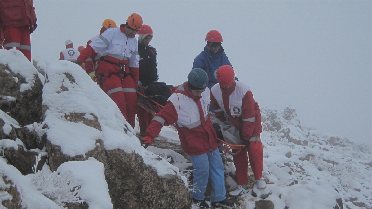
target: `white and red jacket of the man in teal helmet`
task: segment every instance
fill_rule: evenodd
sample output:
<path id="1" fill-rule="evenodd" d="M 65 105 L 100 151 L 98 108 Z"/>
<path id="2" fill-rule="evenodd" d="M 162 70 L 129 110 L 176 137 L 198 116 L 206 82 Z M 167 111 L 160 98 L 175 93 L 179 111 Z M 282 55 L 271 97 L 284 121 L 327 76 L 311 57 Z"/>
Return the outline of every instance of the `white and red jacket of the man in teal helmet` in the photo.
<path id="1" fill-rule="evenodd" d="M 183 151 L 188 155 L 201 155 L 217 149 L 217 134 L 209 116 L 210 97 L 208 89 L 202 96 L 194 96 L 187 82 L 179 85 L 169 97 L 163 110 L 157 113 L 146 136 L 154 139 L 163 125 L 176 123 Z"/>

